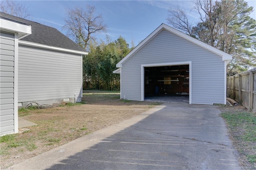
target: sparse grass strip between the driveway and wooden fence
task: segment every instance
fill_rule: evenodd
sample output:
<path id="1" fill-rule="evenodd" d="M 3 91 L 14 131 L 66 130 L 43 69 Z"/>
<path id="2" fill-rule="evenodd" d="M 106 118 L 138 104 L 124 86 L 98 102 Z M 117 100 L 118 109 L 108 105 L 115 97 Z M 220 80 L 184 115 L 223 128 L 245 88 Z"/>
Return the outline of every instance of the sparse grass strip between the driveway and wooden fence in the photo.
<path id="1" fill-rule="evenodd" d="M 226 120 L 242 166 L 256 169 L 256 113 L 249 113 L 241 107 L 224 106 L 221 117 Z"/>

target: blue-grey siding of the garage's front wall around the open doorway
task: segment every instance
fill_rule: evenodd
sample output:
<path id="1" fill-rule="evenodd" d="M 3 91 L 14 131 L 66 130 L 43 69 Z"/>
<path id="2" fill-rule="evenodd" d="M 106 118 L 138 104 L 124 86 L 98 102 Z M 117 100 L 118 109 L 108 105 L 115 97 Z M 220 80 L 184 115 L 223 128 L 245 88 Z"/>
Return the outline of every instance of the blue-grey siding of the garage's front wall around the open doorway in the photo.
<path id="1" fill-rule="evenodd" d="M 167 30 L 162 30 L 123 63 L 121 98 L 141 100 L 141 65 L 188 61 L 192 62 L 191 103 L 224 104 L 222 57 Z"/>

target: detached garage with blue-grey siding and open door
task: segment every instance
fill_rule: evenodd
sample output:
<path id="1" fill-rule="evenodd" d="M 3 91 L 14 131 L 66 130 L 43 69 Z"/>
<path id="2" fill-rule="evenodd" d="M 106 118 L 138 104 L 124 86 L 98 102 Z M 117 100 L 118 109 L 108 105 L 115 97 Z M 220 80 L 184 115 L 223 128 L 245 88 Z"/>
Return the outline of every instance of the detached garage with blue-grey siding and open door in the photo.
<path id="1" fill-rule="evenodd" d="M 226 66 L 231 59 L 161 24 L 116 64 L 113 73 L 120 73 L 121 99 L 187 95 L 190 104 L 226 104 Z"/>

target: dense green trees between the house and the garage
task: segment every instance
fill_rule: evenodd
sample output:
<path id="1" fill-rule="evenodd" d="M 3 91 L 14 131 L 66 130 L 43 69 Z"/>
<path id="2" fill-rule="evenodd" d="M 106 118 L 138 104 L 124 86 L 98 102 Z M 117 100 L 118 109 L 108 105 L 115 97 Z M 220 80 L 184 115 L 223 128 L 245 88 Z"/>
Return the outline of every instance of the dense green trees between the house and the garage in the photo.
<path id="1" fill-rule="evenodd" d="M 91 44 L 90 53 L 84 58 L 84 89 L 120 90 L 120 75 L 114 74 L 116 64 L 124 58 L 131 49 L 121 36 L 100 45 Z"/>

